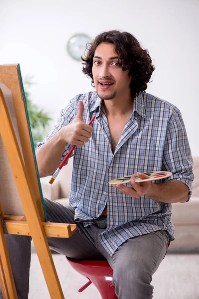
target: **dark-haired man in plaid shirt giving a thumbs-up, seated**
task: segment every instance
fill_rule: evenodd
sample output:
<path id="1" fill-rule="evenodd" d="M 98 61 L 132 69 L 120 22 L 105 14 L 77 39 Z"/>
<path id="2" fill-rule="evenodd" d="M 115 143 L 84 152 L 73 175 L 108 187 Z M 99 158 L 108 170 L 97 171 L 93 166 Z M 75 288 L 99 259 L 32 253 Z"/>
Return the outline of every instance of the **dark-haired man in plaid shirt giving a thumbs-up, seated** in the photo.
<path id="1" fill-rule="evenodd" d="M 69 102 L 36 154 L 42 177 L 77 146 L 70 206 L 47 199 L 45 204 L 49 221 L 76 223 L 78 231 L 48 242 L 71 258 L 107 259 L 119 299 L 151 299 L 152 275 L 174 240 L 172 203 L 189 201 L 192 190 L 193 160 L 184 123 L 174 105 L 145 92 L 154 67 L 130 33 L 101 33 L 83 61 L 96 90 Z M 92 126 L 87 125 L 94 115 Z M 108 184 L 133 173 L 147 178 L 143 172 L 152 170 L 173 175 L 139 184 L 132 175 L 127 185 Z M 6 237 L 18 297 L 25 299 L 30 238 Z"/>

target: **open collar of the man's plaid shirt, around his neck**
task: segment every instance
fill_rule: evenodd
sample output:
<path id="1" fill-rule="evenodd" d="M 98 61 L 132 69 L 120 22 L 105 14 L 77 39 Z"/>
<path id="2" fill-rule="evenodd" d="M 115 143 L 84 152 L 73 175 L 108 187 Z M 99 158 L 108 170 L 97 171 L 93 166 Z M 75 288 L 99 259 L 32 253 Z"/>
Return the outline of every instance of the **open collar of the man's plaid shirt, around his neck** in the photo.
<path id="1" fill-rule="evenodd" d="M 101 99 L 98 96 L 97 92 L 94 94 L 94 104 L 91 107 L 91 112 L 97 111 L 99 108 L 99 112 L 96 113 L 96 117 L 99 116 L 101 111 Z M 146 118 L 146 111 L 144 107 L 144 99 L 143 99 L 143 93 L 140 92 L 139 95 L 134 100 L 134 107 L 133 107 L 133 113 L 137 112 L 141 117 Z"/>

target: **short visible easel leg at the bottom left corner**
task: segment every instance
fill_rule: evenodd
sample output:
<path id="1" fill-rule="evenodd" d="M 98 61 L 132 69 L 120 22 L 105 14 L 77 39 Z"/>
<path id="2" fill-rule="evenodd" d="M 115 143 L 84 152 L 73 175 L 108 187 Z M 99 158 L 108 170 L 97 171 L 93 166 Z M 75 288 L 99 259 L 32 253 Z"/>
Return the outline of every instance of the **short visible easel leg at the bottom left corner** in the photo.
<path id="1" fill-rule="evenodd" d="M 9 255 L 0 221 L 0 284 L 3 299 L 17 299 Z"/>

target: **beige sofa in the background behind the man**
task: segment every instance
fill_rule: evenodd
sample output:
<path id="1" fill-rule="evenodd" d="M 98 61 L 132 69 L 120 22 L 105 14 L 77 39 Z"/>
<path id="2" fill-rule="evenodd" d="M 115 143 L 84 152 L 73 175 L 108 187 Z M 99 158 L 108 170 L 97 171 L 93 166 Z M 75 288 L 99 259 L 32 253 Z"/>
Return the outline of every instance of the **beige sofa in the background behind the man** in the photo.
<path id="1" fill-rule="evenodd" d="M 63 205 L 69 204 L 72 167 L 73 158 L 70 158 L 52 185 L 48 183 L 50 176 L 40 179 L 44 197 Z M 195 180 L 190 201 L 174 203 L 172 207 L 175 240 L 171 242 L 168 253 L 199 253 L 199 156 L 194 157 L 193 171 Z"/>

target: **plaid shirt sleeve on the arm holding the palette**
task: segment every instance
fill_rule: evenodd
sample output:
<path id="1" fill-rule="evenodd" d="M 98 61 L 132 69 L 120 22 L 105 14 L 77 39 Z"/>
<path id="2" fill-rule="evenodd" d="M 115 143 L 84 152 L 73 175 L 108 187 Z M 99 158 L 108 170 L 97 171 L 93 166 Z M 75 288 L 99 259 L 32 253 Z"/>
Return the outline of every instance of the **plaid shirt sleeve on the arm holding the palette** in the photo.
<path id="1" fill-rule="evenodd" d="M 176 179 L 188 186 L 190 192 L 187 201 L 189 201 L 194 180 L 193 158 L 180 111 L 176 113 L 174 121 L 168 127 L 162 169 L 173 173 L 172 176 L 162 180 L 162 182 Z"/>

